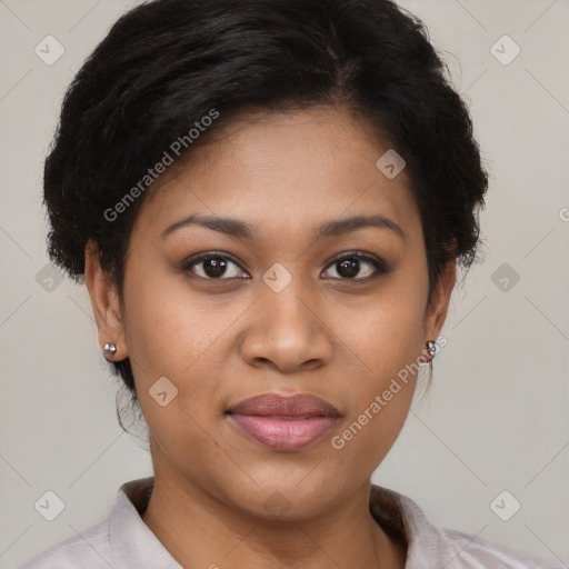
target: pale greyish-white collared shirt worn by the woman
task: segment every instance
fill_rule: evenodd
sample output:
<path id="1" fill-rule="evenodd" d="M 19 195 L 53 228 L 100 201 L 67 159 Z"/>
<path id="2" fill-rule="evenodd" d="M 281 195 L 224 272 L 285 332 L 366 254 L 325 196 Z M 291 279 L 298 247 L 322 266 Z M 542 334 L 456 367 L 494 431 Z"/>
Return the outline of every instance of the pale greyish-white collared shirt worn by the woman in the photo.
<path id="1" fill-rule="evenodd" d="M 126 482 L 107 518 L 14 569 L 182 569 L 140 517 L 152 483 L 152 477 Z M 388 502 L 399 510 L 408 543 L 406 569 L 565 568 L 483 537 L 433 526 L 410 498 L 371 488 L 372 513 Z"/>

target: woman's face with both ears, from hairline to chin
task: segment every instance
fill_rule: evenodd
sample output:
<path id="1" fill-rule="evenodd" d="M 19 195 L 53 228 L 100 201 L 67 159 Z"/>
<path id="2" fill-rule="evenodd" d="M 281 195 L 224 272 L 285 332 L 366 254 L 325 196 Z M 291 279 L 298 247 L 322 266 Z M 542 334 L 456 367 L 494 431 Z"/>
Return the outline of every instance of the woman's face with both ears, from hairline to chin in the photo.
<path id="1" fill-rule="evenodd" d="M 347 111 L 241 116 L 149 190 L 120 311 L 89 261 L 100 340 L 131 359 L 157 477 L 261 517 L 279 491 L 297 519 L 369 482 L 453 283 L 427 305 L 419 211 L 406 171 L 376 166 L 387 150 Z M 271 407 L 298 393 L 330 407 Z"/>

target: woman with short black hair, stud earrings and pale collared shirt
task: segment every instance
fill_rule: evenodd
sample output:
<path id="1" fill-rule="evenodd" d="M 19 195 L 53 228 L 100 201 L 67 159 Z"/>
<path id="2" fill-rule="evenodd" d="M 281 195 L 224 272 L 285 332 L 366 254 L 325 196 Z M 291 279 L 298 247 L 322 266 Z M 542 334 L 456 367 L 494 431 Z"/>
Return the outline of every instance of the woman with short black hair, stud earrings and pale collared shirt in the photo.
<path id="1" fill-rule="evenodd" d="M 154 476 L 22 567 L 553 567 L 370 485 L 487 186 L 425 28 L 388 0 L 123 16 L 64 99 L 44 201 Z"/>

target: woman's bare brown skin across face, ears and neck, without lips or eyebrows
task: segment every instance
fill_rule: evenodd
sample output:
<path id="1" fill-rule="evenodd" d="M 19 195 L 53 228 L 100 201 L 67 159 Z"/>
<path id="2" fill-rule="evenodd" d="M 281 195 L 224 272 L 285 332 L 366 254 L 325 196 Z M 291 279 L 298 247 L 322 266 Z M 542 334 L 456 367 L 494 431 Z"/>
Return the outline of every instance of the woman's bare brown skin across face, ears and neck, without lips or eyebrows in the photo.
<path id="1" fill-rule="evenodd" d="M 131 358 L 149 426 L 154 490 L 142 519 L 186 568 L 403 568 L 406 548 L 368 503 L 371 473 L 401 431 L 417 378 L 342 449 L 331 439 L 399 370 L 426 359 L 425 345 L 446 319 L 455 263 L 428 305 L 421 219 L 406 171 L 388 179 L 376 167 L 389 143 L 346 109 L 249 112 L 222 133 L 146 197 L 122 302 L 93 243 L 86 250 L 100 346 L 113 341 L 114 360 Z M 238 218 L 254 238 L 197 224 L 161 237 L 190 212 Z M 358 214 L 385 216 L 405 238 L 366 227 L 315 241 L 320 223 Z M 208 280 L 207 262 L 180 269 L 204 251 L 239 264 L 229 260 L 217 280 Z M 347 278 L 332 262 L 345 251 L 377 256 L 391 270 L 365 281 L 376 269 L 360 261 Z M 279 292 L 262 280 L 276 262 L 292 277 Z M 149 393 L 161 377 L 178 388 L 166 407 Z M 310 447 L 268 449 L 223 415 L 268 391 L 313 393 L 341 418 Z M 277 491 L 290 505 L 281 518 L 263 507 Z"/>

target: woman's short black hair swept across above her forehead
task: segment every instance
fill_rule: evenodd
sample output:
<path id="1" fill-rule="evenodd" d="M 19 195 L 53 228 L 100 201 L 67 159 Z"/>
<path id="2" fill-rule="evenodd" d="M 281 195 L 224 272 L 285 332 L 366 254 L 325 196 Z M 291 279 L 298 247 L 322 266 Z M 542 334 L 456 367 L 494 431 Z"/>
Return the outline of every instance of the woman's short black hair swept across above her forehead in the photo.
<path id="1" fill-rule="evenodd" d="M 63 99 L 44 166 L 51 260 L 80 281 L 92 240 L 122 295 L 148 169 L 166 151 L 178 162 L 241 111 L 317 104 L 348 108 L 403 157 L 430 299 L 448 261 L 477 260 L 488 174 L 427 28 L 390 0 L 156 0 L 123 14 Z M 129 359 L 113 366 L 136 402 Z"/>

